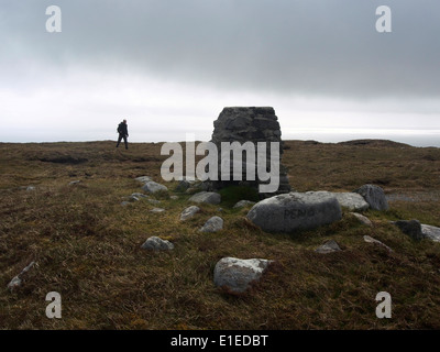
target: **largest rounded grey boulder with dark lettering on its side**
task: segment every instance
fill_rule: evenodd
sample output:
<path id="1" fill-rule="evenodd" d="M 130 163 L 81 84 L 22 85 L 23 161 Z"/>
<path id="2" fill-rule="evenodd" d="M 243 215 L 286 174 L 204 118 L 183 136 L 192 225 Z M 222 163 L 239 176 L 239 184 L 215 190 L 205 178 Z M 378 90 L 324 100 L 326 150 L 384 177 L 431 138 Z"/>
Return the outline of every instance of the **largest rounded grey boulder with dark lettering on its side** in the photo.
<path id="1" fill-rule="evenodd" d="M 267 232 L 315 229 L 342 218 L 338 199 L 328 191 L 289 193 L 257 202 L 248 219 Z"/>

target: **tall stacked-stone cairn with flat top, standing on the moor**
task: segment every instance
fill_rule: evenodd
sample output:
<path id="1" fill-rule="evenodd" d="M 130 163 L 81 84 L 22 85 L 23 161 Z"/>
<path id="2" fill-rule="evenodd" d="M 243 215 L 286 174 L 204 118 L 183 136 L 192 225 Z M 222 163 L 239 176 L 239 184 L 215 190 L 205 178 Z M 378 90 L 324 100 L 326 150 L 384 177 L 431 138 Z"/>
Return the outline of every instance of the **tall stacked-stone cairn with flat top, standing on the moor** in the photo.
<path id="1" fill-rule="evenodd" d="M 255 180 L 246 179 L 246 167 L 245 167 L 245 153 L 243 153 L 243 166 L 242 166 L 242 180 L 233 180 L 232 164 L 230 167 L 230 180 L 221 180 L 221 142 L 239 142 L 243 144 L 245 142 L 253 142 L 255 145 L 257 142 L 266 142 L 266 167 L 270 170 L 271 165 L 271 143 L 279 142 L 279 158 L 283 154 L 283 141 L 282 132 L 279 129 L 278 118 L 275 116 L 275 110 L 271 107 L 234 107 L 224 108 L 220 113 L 219 118 L 213 122 L 212 140 L 219 151 L 219 180 L 209 182 L 208 188 L 211 190 L 221 189 L 231 185 L 250 186 L 258 190 L 258 185 L 264 182 L 258 179 L 257 172 L 255 169 Z M 232 153 L 231 153 L 232 161 Z M 256 161 L 256 155 L 255 155 Z M 267 184 L 268 182 L 266 182 Z M 261 194 L 260 197 L 267 198 L 277 194 L 286 194 L 290 191 L 290 186 L 287 177 L 287 168 L 284 165 L 279 165 L 279 187 L 275 194 Z"/>

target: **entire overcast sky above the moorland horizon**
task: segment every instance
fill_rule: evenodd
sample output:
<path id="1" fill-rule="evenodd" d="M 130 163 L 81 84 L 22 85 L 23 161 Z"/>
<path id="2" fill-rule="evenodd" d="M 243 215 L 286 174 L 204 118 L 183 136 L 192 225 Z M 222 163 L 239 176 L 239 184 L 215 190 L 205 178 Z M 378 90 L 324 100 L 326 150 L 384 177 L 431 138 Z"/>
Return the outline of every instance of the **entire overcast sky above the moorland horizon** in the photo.
<path id="1" fill-rule="evenodd" d="M 438 0 L 1 0 L 0 141 L 209 140 L 271 106 L 285 140 L 440 146 L 439 34 Z"/>

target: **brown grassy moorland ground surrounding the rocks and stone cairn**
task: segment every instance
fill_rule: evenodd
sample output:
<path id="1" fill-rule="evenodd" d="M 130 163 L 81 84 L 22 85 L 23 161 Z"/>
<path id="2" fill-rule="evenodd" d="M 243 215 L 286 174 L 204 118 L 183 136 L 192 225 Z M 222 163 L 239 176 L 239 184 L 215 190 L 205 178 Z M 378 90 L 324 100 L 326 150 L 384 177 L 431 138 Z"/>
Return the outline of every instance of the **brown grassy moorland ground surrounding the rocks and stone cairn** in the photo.
<path id="1" fill-rule="evenodd" d="M 232 209 L 230 202 L 202 206 L 180 222 L 185 194 L 161 197 L 164 213 L 151 213 L 155 206 L 146 200 L 122 207 L 124 197 L 140 191 L 134 177 L 162 183 L 160 143 L 132 143 L 129 151 L 113 142 L 0 144 L 0 328 L 439 329 L 440 244 L 414 242 L 388 221 L 440 227 L 440 150 L 386 142 L 286 146 L 283 162 L 299 191 L 350 191 L 373 183 L 388 194 L 429 197 L 366 211 L 373 229 L 344 210 L 328 227 L 271 234 L 245 219 L 250 207 Z M 29 185 L 35 190 L 21 188 Z M 224 219 L 224 229 L 199 233 L 213 215 Z M 394 252 L 365 243 L 365 234 Z M 141 250 L 152 235 L 175 250 Z M 343 251 L 315 253 L 330 239 Z M 276 263 L 235 297 L 212 283 L 223 256 Z M 37 266 L 10 293 L 8 283 L 31 261 Z M 50 292 L 62 295 L 62 319 L 45 316 Z M 378 292 L 392 295 L 392 319 L 375 316 Z"/>

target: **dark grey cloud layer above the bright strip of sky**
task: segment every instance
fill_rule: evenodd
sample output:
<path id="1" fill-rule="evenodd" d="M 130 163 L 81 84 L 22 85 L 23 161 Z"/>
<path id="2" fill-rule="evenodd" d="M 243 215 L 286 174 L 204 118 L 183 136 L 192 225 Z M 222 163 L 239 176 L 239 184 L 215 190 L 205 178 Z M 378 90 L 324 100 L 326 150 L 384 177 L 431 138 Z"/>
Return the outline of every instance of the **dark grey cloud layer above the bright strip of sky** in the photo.
<path id="1" fill-rule="evenodd" d="M 382 1 L 4 2 L 0 70 L 11 82 L 32 82 L 32 69 L 63 75 L 85 65 L 258 92 L 354 99 L 440 94 L 436 0 L 386 1 L 391 34 L 374 29 Z M 50 4 L 63 10 L 61 34 L 44 31 Z"/>

